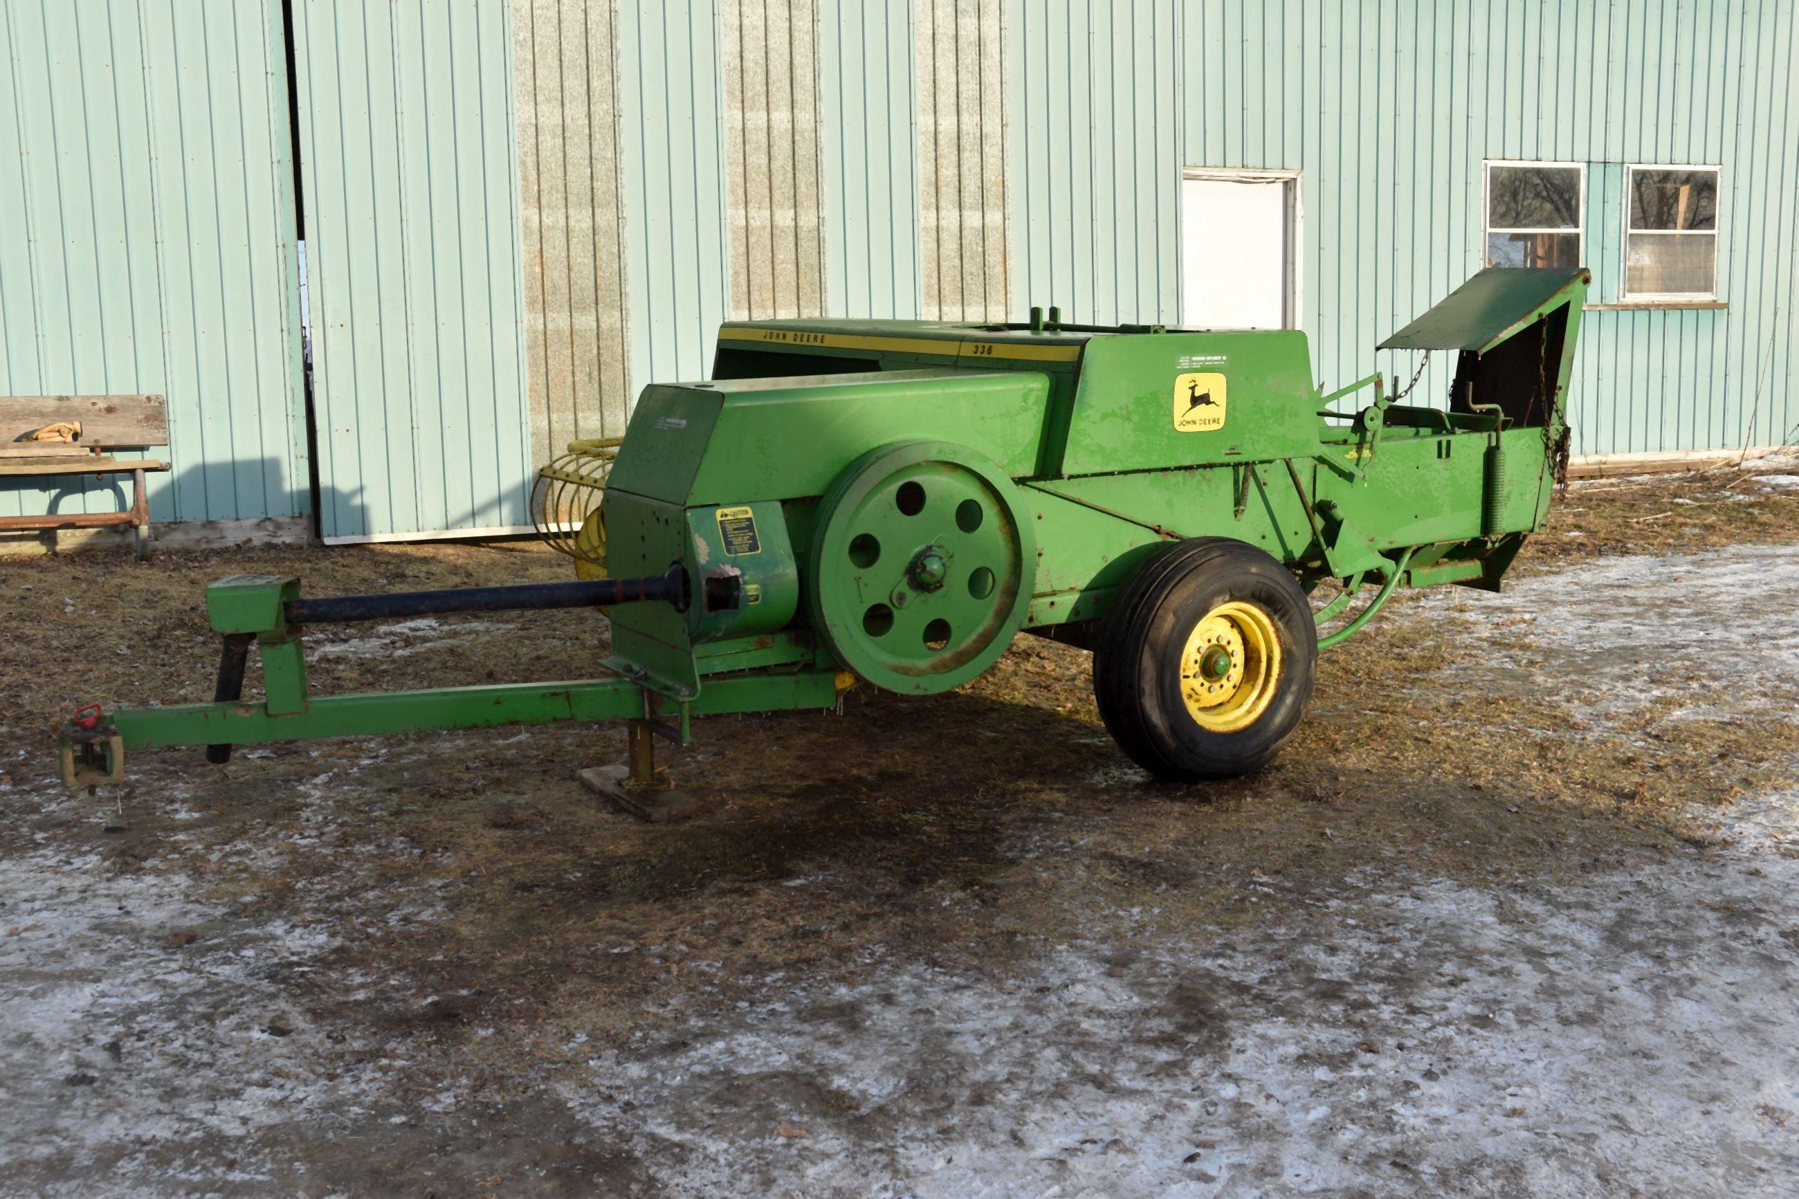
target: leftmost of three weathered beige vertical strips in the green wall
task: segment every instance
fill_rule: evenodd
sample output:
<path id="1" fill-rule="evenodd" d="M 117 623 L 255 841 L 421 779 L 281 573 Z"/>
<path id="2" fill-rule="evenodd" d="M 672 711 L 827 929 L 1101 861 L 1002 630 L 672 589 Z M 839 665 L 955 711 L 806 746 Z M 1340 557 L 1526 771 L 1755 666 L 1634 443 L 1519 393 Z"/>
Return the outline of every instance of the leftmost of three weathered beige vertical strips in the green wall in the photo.
<path id="1" fill-rule="evenodd" d="M 622 115 L 613 0 L 518 0 L 518 111 L 531 460 L 624 431 Z"/>

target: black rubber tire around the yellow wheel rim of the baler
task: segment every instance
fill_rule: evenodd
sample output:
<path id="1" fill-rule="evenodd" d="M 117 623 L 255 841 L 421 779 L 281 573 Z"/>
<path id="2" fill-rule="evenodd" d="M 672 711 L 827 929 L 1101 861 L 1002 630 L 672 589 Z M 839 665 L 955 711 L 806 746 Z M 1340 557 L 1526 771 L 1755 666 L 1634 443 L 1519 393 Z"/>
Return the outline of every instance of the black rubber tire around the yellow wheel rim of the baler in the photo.
<path id="1" fill-rule="evenodd" d="M 1274 699 L 1231 733 L 1200 726 L 1180 697 L 1187 635 L 1227 600 L 1261 608 L 1281 640 Z M 1144 563 L 1119 588 L 1094 651 L 1094 697 L 1106 732 L 1168 782 L 1249 775 L 1299 726 L 1319 662 L 1319 629 L 1304 591 L 1281 563 L 1231 537 L 1195 537 Z"/>

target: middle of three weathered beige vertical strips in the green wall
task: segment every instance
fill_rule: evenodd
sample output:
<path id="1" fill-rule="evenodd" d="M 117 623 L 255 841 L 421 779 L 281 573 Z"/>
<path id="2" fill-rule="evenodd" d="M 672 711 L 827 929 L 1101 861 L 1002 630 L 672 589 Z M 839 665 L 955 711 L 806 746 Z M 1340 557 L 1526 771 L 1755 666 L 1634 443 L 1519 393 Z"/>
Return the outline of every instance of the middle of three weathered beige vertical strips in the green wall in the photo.
<path id="1" fill-rule="evenodd" d="M 817 0 L 723 0 L 730 311 L 824 315 Z"/>

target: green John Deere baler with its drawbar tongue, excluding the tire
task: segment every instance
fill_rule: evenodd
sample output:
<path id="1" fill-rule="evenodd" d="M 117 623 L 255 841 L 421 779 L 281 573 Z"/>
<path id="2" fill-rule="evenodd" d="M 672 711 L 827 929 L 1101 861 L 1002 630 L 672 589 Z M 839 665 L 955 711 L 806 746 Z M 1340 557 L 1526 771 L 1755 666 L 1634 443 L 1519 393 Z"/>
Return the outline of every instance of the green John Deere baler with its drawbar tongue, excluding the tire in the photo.
<path id="1" fill-rule="evenodd" d="M 209 588 L 209 611 L 227 658 L 234 638 L 255 640 L 266 697 L 122 708 L 115 728 L 65 733 L 65 778 L 79 773 L 76 748 L 95 744 L 110 746 L 103 773 L 115 780 L 128 748 L 550 719 L 662 732 L 673 719 L 685 739 L 696 714 L 829 706 L 851 665 L 831 649 L 844 620 L 824 613 L 829 604 L 849 597 L 860 615 L 883 597 L 943 602 L 943 584 L 907 591 L 925 575 L 894 586 L 894 561 L 878 577 L 855 561 L 855 543 L 833 541 L 851 484 L 869 462 L 889 462 L 874 451 L 898 444 L 959 464 L 941 476 L 953 485 L 970 485 L 970 466 L 997 480 L 975 485 L 1018 532 L 1015 570 L 980 618 L 1006 638 L 1027 629 L 1090 644 L 1132 572 L 1187 537 L 1261 546 L 1308 588 L 1374 577 L 1382 599 L 1400 584 L 1497 588 L 1549 509 L 1587 282 L 1583 270 L 1488 270 L 1389 338 L 1382 349 L 1459 354 L 1448 410 L 1380 395 L 1378 377 L 1324 394 L 1304 334 L 1288 331 L 727 324 L 712 381 L 644 390 L 606 482 L 608 572 L 642 581 L 678 566 L 689 588 L 684 606 L 612 608 L 608 674 L 592 676 L 576 656 L 570 681 L 311 696 L 302 629 L 286 615 L 299 581 L 239 575 Z M 1326 415 L 1369 383 L 1360 412 Z M 891 521 L 892 505 L 885 512 Z M 828 557 L 828 546 L 849 554 Z M 901 564 L 912 555 L 908 572 L 934 548 L 894 546 Z M 964 572 L 962 611 L 988 595 L 970 564 L 948 564 Z M 729 586 L 712 602 L 718 582 Z M 991 662 L 1004 638 L 989 649 L 961 674 L 900 669 L 880 681 L 943 690 Z"/>

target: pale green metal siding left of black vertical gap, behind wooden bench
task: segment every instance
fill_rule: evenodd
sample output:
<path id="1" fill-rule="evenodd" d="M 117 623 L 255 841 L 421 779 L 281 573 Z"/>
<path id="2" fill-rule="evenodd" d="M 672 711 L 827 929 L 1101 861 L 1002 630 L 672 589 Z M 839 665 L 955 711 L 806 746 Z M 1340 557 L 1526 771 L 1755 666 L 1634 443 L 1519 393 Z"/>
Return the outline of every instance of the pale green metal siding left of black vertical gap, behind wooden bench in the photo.
<path id="1" fill-rule="evenodd" d="M 279 0 L 4 0 L 0 54 L 0 392 L 166 395 L 158 521 L 302 514 Z M 5 514 L 124 500 L 0 487 Z"/>

